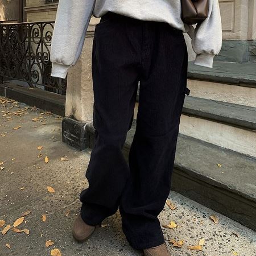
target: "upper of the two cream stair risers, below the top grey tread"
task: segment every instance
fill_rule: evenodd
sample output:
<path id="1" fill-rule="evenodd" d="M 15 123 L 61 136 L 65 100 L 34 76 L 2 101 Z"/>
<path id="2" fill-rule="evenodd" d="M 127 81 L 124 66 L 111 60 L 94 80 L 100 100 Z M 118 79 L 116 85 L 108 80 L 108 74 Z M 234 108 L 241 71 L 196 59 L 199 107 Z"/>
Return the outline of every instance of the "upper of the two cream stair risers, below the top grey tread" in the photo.
<path id="1" fill-rule="evenodd" d="M 230 102 L 256 108 L 256 88 L 188 79 L 189 96 Z"/>

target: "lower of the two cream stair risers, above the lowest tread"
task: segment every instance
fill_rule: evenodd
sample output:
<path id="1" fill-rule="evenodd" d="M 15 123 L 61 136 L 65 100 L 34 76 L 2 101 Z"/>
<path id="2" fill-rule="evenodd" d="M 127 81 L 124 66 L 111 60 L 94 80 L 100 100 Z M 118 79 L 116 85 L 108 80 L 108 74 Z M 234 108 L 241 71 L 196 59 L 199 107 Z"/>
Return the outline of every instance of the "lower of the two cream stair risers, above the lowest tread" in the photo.
<path id="1" fill-rule="evenodd" d="M 181 134 L 256 157 L 256 132 L 203 118 L 181 115 Z"/>

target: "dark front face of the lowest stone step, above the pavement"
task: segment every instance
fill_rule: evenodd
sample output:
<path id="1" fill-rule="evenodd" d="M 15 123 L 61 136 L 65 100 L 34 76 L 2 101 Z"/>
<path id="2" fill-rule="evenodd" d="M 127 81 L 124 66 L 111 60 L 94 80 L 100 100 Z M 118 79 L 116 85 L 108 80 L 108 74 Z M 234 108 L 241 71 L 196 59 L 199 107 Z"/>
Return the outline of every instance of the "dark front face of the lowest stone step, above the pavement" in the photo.
<path id="1" fill-rule="evenodd" d="M 224 188 L 215 187 L 205 177 L 202 178 L 174 168 L 171 189 L 256 230 L 256 208 L 253 201 Z"/>

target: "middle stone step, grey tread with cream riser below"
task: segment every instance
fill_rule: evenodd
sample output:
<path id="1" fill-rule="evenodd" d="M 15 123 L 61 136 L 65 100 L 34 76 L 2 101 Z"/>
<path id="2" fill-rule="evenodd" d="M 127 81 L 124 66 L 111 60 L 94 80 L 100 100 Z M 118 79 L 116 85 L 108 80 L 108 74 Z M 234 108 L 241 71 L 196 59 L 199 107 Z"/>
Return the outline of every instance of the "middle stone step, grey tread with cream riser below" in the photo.
<path id="1" fill-rule="evenodd" d="M 187 96 L 180 133 L 256 157 L 256 108 Z"/>

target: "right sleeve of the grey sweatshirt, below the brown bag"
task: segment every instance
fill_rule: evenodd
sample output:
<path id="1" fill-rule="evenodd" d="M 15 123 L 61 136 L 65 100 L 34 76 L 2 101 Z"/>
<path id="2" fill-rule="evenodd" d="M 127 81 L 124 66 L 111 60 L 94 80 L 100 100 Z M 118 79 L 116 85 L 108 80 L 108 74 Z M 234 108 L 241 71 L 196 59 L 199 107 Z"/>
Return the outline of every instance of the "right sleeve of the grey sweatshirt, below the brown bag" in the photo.
<path id="1" fill-rule="evenodd" d="M 192 26 L 192 25 L 191 25 Z M 192 48 L 196 53 L 194 64 L 213 67 L 213 58 L 222 46 L 222 26 L 218 0 L 209 0 L 208 18 L 196 25 Z"/>

